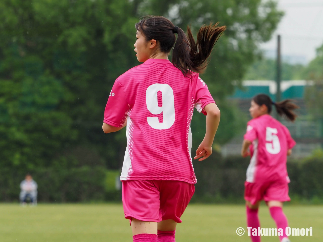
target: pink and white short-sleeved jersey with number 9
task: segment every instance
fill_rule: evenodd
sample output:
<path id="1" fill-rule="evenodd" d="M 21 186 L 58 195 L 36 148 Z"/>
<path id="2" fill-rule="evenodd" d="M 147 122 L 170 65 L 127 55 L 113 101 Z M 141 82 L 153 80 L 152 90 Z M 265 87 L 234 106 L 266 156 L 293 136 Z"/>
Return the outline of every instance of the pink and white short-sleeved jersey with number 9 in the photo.
<path id="1" fill-rule="evenodd" d="M 120 180 L 196 183 L 190 123 L 214 100 L 197 73 L 190 78 L 169 60 L 148 59 L 115 81 L 104 122 L 127 122 L 127 148 Z"/>

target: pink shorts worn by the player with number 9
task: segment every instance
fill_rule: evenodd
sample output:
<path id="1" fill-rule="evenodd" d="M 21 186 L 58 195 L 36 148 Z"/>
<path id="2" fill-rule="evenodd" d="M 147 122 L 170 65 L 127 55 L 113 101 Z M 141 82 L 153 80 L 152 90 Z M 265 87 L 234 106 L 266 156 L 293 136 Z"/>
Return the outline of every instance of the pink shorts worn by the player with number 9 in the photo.
<path id="1" fill-rule="evenodd" d="M 194 184 L 182 181 L 122 181 L 122 204 L 127 219 L 160 222 L 180 219 L 194 194 Z"/>

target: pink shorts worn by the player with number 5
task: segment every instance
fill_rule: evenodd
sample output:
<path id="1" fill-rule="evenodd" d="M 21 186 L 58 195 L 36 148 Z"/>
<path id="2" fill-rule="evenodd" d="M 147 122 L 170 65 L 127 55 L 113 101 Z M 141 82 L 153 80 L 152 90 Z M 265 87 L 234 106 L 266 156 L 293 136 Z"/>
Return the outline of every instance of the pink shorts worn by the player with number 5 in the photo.
<path id="1" fill-rule="evenodd" d="M 288 196 L 288 183 L 265 182 L 252 183 L 245 182 L 245 200 L 255 205 L 257 201 L 290 201 Z"/>

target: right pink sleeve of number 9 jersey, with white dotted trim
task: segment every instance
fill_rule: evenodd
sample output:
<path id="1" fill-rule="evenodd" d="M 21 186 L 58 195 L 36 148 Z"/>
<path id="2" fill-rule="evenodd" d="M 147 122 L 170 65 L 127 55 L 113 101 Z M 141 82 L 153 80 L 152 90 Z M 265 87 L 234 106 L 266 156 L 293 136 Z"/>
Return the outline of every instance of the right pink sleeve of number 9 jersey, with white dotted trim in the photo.
<path id="1" fill-rule="evenodd" d="M 202 112 L 206 115 L 204 107 L 209 103 L 215 103 L 213 97 L 211 96 L 209 89 L 207 88 L 205 82 L 196 75 L 196 85 L 193 90 L 194 96 L 194 107 L 197 109 L 198 112 Z"/>

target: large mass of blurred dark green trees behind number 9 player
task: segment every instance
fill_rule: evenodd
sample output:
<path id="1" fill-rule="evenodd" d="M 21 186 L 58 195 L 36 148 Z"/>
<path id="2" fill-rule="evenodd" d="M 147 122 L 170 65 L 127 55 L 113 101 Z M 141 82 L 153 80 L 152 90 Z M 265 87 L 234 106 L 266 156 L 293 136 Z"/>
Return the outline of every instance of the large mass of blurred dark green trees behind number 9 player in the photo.
<path id="1" fill-rule="evenodd" d="M 259 56 L 283 13 L 261 0 L 3 0 L 0 2 L 0 166 L 117 169 L 124 130 L 105 135 L 103 111 L 114 80 L 140 63 L 133 52 L 139 17 L 164 15 L 193 30 L 226 25 L 202 78 L 222 111 L 216 142 L 244 125 L 225 102 Z M 203 115 L 192 121 L 193 150 Z"/>

